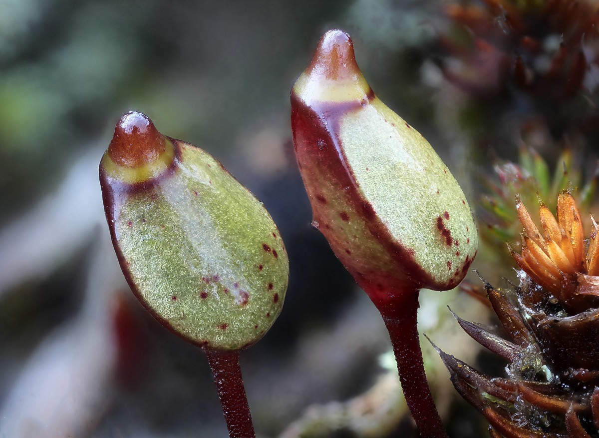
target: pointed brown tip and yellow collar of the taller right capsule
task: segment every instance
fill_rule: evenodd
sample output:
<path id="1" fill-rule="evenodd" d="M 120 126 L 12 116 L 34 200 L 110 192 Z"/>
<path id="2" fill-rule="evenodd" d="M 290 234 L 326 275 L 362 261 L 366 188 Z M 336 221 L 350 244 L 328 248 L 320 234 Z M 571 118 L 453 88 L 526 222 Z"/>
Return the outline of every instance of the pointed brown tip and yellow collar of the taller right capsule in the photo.
<path id="1" fill-rule="evenodd" d="M 320 38 L 308 68 L 298 78 L 294 93 L 306 104 L 364 100 L 371 93 L 356 64 L 352 39 L 340 29 Z"/>

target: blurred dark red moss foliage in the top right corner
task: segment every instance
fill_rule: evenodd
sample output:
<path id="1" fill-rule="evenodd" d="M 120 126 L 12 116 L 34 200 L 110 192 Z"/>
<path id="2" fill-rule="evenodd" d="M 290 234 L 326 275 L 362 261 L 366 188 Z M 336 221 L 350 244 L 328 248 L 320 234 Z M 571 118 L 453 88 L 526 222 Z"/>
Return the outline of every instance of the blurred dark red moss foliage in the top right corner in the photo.
<path id="1" fill-rule="evenodd" d="M 540 119 L 558 140 L 597 137 L 596 2 L 449 1 L 444 11 L 438 65 L 480 111 L 475 128 L 497 135 Z"/>

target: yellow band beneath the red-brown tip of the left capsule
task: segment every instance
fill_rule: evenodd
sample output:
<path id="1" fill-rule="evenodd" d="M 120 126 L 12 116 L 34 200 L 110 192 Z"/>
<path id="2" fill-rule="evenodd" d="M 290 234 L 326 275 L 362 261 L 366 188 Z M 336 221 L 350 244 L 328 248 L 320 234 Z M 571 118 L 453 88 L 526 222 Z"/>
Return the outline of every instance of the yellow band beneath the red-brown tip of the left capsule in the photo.
<path id="1" fill-rule="evenodd" d="M 173 163 L 175 158 L 175 146 L 168 138 L 165 140 L 164 152 L 152 162 L 138 167 L 123 167 L 116 164 L 108 154 L 102 156 L 102 167 L 108 177 L 123 183 L 135 184 L 152 180 L 162 174 Z"/>

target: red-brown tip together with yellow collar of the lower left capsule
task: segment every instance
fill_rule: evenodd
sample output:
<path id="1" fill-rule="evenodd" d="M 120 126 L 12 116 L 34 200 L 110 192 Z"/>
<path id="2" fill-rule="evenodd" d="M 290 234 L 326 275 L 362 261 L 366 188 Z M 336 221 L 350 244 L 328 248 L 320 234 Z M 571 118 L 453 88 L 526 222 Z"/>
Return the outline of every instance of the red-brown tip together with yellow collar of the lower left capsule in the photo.
<path id="1" fill-rule="evenodd" d="M 145 114 L 129 111 L 114 128 L 102 157 L 107 176 L 123 183 L 147 182 L 163 173 L 174 159 L 174 145 Z"/>

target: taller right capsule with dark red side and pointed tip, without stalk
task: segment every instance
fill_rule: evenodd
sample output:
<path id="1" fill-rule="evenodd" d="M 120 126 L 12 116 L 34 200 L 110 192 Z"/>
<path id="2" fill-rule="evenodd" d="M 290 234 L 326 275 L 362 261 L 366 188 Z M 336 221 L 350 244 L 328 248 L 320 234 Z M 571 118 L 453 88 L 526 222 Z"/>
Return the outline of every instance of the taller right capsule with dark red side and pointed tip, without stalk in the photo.
<path id="1" fill-rule="evenodd" d="M 291 103 L 314 226 L 371 299 L 458 285 L 478 246 L 464 193 L 428 141 L 374 95 L 349 35 L 323 35 Z"/>

